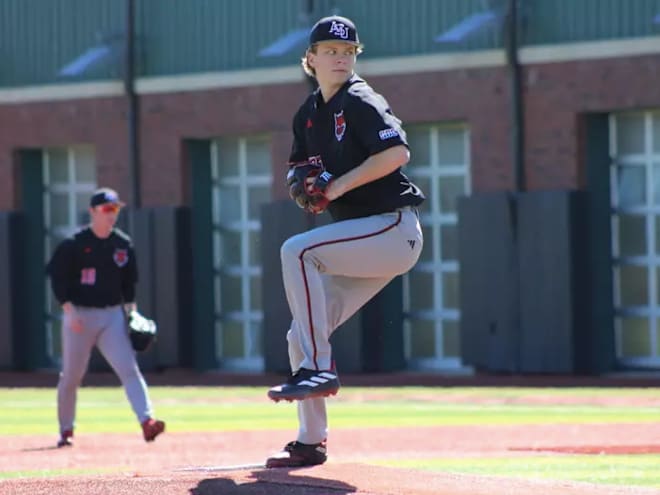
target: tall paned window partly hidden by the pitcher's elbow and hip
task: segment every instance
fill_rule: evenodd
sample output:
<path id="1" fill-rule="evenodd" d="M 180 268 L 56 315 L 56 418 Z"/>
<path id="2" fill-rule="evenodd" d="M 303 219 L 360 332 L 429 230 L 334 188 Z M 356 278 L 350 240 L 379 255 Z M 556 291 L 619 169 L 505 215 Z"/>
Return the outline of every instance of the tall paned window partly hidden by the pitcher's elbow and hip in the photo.
<path id="1" fill-rule="evenodd" d="M 424 249 L 404 277 L 406 356 L 412 369 L 461 366 L 457 198 L 470 190 L 469 134 L 461 125 L 407 128 L 405 173 L 422 188 Z"/>

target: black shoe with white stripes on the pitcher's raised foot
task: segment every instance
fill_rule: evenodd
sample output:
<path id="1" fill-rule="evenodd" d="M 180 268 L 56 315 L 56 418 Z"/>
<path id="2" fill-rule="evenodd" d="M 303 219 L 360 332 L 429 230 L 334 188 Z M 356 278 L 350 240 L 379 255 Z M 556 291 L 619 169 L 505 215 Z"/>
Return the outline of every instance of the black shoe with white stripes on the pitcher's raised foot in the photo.
<path id="1" fill-rule="evenodd" d="M 281 400 L 304 400 L 313 397 L 328 397 L 339 391 L 339 378 L 335 370 L 308 370 L 300 368 L 282 385 L 268 391 L 268 398 Z"/>

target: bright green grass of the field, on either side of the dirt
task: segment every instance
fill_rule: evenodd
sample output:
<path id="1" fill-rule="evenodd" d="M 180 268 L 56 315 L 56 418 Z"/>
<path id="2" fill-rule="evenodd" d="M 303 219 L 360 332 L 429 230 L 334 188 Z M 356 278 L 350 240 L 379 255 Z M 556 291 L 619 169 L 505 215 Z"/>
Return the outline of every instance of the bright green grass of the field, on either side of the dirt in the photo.
<path id="1" fill-rule="evenodd" d="M 596 388 L 353 388 L 328 402 L 332 428 L 451 425 L 541 425 L 557 423 L 658 423 L 657 389 Z M 223 432 L 297 428 L 295 404 L 272 404 L 263 387 L 151 387 L 168 431 Z M 616 397 L 616 407 L 599 399 Z M 547 400 L 550 398 L 551 400 Z M 556 398 L 556 400 L 552 400 Z M 570 398 L 570 403 L 567 400 Z M 648 406 L 627 405 L 643 398 Z M 120 387 L 83 387 L 78 394 L 78 424 L 86 432 L 134 433 L 135 419 Z M 3 435 L 57 431 L 54 389 L 0 389 L 0 441 Z M 649 439 L 653 440 L 653 439 Z M 379 464 L 479 475 L 525 476 L 556 480 L 660 488 L 660 456 L 539 455 L 511 458 L 398 459 Z M 106 472 L 66 470 L 60 474 Z M 45 470 L 2 471 L 0 479 L 51 476 Z"/>

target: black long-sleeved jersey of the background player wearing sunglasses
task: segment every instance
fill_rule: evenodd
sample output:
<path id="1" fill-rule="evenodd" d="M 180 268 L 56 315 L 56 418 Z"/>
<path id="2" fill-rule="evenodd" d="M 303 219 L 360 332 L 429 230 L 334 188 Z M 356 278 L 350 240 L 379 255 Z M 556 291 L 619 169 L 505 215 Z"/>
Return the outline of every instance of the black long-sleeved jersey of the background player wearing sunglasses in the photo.
<path id="1" fill-rule="evenodd" d="M 48 274 L 60 304 L 103 308 L 135 301 L 135 252 L 119 229 L 101 239 L 87 227 L 65 239 L 48 263 Z"/>

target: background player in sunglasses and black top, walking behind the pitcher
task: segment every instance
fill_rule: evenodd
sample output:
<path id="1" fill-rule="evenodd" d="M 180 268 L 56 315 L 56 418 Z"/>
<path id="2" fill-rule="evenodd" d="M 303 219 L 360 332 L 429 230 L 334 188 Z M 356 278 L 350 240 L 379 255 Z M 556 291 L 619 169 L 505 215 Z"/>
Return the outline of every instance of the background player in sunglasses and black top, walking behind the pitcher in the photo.
<path id="1" fill-rule="evenodd" d="M 90 225 L 62 241 L 48 264 L 64 312 L 58 447 L 73 445 L 77 391 L 95 345 L 121 380 L 144 440 L 151 442 L 165 431 L 165 423 L 153 419 L 147 385 L 126 331 L 125 311 L 136 309 L 137 263 L 131 239 L 115 228 L 122 206 L 114 190 L 98 189 L 90 200 Z"/>

